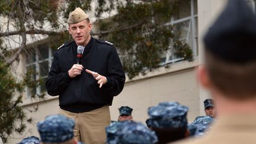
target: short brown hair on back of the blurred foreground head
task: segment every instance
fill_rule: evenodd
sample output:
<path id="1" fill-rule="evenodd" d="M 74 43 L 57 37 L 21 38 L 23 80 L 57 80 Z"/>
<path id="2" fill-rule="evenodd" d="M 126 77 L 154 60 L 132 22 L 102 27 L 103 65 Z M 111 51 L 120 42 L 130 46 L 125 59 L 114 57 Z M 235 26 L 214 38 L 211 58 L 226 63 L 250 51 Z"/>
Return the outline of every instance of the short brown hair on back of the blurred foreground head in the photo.
<path id="1" fill-rule="evenodd" d="M 256 96 L 256 60 L 226 62 L 207 49 L 205 60 L 210 81 L 225 97 L 246 100 Z"/>

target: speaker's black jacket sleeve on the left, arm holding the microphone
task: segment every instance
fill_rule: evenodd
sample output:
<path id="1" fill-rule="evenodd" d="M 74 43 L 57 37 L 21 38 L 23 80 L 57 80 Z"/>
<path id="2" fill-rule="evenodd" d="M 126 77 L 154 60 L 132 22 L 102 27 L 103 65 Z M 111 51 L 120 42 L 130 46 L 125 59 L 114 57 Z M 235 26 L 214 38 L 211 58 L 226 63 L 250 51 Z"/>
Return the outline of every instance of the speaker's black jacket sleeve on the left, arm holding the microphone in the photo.
<path id="1" fill-rule="evenodd" d="M 48 94 L 52 96 L 62 94 L 66 87 L 68 87 L 69 81 L 71 81 L 71 79 L 72 78 L 69 76 L 68 71 L 60 71 L 57 52 L 55 52 L 52 66 L 46 81 L 46 89 Z"/>

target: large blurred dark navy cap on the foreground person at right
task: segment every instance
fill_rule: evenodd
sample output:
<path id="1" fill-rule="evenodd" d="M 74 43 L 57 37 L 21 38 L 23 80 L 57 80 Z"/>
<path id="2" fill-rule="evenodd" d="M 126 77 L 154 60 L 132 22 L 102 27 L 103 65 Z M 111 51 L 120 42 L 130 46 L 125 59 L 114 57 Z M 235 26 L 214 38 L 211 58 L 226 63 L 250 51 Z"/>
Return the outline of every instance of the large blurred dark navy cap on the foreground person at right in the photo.
<path id="1" fill-rule="evenodd" d="M 245 0 L 229 0 L 204 37 L 209 52 L 226 62 L 256 60 L 256 17 Z"/>

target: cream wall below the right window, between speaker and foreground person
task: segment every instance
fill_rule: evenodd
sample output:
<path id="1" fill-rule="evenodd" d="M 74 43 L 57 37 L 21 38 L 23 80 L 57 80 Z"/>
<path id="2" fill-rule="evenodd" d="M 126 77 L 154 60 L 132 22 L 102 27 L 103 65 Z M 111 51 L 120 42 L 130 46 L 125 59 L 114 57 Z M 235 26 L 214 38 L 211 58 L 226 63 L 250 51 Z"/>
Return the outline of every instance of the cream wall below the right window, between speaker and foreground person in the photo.
<path id="1" fill-rule="evenodd" d="M 166 72 L 166 69 L 162 71 L 165 73 L 127 82 L 123 92 L 114 98 L 112 120 L 117 120 L 118 108 L 127 105 L 133 108 L 133 120 L 145 123 L 149 117 L 148 107 L 164 101 L 177 101 L 187 105 L 190 108 L 188 120 L 194 120 L 199 115 L 199 86 L 194 67 L 174 72 Z"/>

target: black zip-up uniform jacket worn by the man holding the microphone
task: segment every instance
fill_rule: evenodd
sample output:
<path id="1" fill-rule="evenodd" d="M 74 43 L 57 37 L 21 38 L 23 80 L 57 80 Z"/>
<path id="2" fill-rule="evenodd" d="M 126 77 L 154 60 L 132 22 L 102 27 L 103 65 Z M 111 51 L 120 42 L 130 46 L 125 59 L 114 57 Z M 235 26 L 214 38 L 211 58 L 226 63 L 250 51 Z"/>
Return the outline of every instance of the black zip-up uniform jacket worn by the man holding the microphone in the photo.
<path id="1" fill-rule="evenodd" d="M 72 41 L 55 52 L 46 81 L 48 94 L 59 95 L 60 108 L 73 113 L 111 105 L 113 97 L 123 90 L 125 81 L 123 66 L 115 47 L 91 37 L 82 55 L 84 69 L 81 75 L 71 78 L 68 71 L 76 63 L 77 47 Z M 106 76 L 107 83 L 99 88 L 97 80 L 85 69 Z"/>

